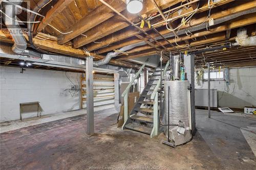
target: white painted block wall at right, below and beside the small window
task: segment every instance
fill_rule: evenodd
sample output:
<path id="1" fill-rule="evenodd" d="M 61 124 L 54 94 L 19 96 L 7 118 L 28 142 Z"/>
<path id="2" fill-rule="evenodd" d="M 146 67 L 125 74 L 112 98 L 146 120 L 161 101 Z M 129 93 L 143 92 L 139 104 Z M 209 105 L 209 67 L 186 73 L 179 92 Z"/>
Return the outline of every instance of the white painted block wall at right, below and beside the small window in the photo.
<path id="1" fill-rule="evenodd" d="M 195 78 L 196 88 L 207 88 L 207 82 Z M 243 108 L 256 106 L 256 67 L 229 69 L 229 85 L 224 81 L 211 81 L 210 87 L 218 90 L 220 107 Z"/>

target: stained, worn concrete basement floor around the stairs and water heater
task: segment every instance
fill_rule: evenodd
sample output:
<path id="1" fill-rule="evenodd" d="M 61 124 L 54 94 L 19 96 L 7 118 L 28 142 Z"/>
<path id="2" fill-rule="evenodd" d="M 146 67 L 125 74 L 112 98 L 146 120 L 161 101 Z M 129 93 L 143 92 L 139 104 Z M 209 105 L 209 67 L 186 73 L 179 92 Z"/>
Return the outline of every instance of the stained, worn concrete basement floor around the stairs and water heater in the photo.
<path id="1" fill-rule="evenodd" d="M 86 135 L 86 115 L 1 133 L 0 168 L 256 169 L 256 158 L 240 130 L 255 127 L 254 119 L 219 112 L 208 119 L 207 111 L 197 110 L 196 135 L 174 149 L 161 144 L 162 134 L 150 139 L 116 128 L 117 116 L 114 108 L 96 111 L 97 134 L 92 137 Z"/>

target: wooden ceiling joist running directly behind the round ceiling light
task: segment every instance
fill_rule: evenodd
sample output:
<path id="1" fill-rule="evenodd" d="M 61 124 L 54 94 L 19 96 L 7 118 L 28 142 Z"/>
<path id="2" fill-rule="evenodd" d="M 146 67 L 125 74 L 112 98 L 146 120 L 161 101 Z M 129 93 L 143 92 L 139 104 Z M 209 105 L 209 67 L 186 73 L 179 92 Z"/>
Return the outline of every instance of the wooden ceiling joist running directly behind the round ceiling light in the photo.
<path id="1" fill-rule="evenodd" d="M 169 6 L 175 5 L 181 1 L 177 0 L 157 0 L 157 4 L 161 5 L 161 8 L 167 8 Z M 144 6 L 148 4 L 147 1 L 144 1 Z M 156 9 L 154 6 L 148 4 L 145 6 L 143 11 L 140 13 L 140 15 L 149 15 L 151 13 L 156 12 Z M 134 22 L 138 22 L 138 15 L 131 14 L 127 10 L 122 12 L 122 15 L 126 16 L 130 20 L 134 20 Z M 84 32 L 84 35 L 87 35 L 87 37 L 79 36 L 74 38 L 74 48 L 81 47 L 85 44 L 88 44 L 90 42 L 93 42 L 97 39 L 100 39 L 102 37 L 105 37 L 107 35 L 110 35 L 114 32 L 117 32 L 121 29 L 124 29 L 126 27 L 130 26 L 129 23 L 127 23 L 123 18 L 120 16 L 114 16 L 104 22 L 102 22 L 100 25 L 96 26 L 94 29 L 91 29 L 87 32 Z M 135 29 L 136 32 L 138 32 Z"/>

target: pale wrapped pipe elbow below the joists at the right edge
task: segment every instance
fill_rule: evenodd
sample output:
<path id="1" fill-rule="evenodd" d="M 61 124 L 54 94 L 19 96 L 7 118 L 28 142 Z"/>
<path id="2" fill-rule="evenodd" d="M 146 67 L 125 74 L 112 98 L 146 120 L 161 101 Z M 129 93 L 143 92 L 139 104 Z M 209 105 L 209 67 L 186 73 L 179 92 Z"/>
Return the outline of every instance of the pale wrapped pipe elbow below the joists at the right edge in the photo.
<path id="1" fill-rule="evenodd" d="M 246 29 L 239 29 L 236 41 L 241 46 L 256 45 L 256 36 L 249 37 Z"/>

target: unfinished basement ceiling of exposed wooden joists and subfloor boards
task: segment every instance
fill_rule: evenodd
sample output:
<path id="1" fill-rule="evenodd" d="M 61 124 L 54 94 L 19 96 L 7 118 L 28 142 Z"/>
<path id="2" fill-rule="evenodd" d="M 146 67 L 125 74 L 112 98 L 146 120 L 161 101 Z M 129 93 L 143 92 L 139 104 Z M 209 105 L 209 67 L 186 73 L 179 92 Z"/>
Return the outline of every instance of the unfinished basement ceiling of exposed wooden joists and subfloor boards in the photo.
<path id="1" fill-rule="evenodd" d="M 42 2 L 30 1 L 30 10 Z M 248 36 L 255 35 L 256 1 L 211 0 L 209 5 L 208 1 L 198 0 L 144 0 L 139 15 L 127 11 L 125 0 L 104 0 L 116 12 L 97 0 L 47 2 L 36 11 L 45 16 L 37 16 L 35 21 L 40 22 L 33 25 L 33 42 L 37 48 L 80 58 L 92 55 L 94 60 L 99 60 L 123 46 L 145 42 L 119 54 L 110 62 L 126 67 L 138 65 L 134 60 L 141 61 L 139 57 L 159 55 L 160 51 L 166 56 L 170 52 L 189 54 L 236 42 L 237 30 L 241 27 L 247 29 Z M 27 7 L 25 2 L 22 5 Z M 18 17 L 28 20 L 26 12 Z M 138 30 L 131 22 L 140 27 L 142 17 L 146 22 L 142 30 Z M 166 18 L 170 19 L 168 28 L 172 27 L 175 31 L 166 28 Z M 209 26 L 210 19 L 214 19 L 212 26 Z M 26 34 L 25 37 L 28 39 Z M 2 31 L 0 40 L 13 43 L 8 32 Z M 195 66 L 204 67 L 206 62 L 212 62 L 216 67 L 256 65 L 255 53 L 255 46 L 223 47 L 197 54 Z"/>

